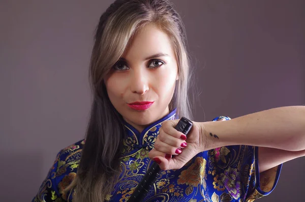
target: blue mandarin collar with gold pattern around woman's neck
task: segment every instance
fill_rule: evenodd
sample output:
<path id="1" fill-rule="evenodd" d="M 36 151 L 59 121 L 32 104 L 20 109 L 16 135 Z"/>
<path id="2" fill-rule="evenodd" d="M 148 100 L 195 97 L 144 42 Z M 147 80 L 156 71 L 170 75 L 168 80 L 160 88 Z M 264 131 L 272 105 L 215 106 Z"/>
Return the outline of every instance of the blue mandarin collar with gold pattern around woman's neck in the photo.
<path id="1" fill-rule="evenodd" d="M 133 150 L 145 148 L 150 151 L 154 149 L 156 138 L 159 134 L 159 129 L 162 126 L 164 121 L 178 119 L 176 114 L 176 108 L 172 110 L 165 117 L 155 121 L 154 123 L 148 125 L 144 130 L 140 133 L 137 129 L 135 129 L 132 125 L 124 121 L 125 129 L 126 129 L 126 138 L 124 139 L 124 149 L 123 154 L 128 154 Z M 134 153 L 134 152 L 132 152 Z"/>

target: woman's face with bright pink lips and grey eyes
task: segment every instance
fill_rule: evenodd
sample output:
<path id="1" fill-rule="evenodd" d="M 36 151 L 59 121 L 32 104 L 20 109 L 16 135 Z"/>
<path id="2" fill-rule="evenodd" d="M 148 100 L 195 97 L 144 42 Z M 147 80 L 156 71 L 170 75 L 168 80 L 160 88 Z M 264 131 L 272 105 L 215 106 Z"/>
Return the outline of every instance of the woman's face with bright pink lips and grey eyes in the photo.
<path id="1" fill-rule="evenodd" d="M 177 79 L 169 37 L 154 24 L 147 24 L 134 36 L 105 84 L 113 106 L 141 132 L 169 113 Z"/>

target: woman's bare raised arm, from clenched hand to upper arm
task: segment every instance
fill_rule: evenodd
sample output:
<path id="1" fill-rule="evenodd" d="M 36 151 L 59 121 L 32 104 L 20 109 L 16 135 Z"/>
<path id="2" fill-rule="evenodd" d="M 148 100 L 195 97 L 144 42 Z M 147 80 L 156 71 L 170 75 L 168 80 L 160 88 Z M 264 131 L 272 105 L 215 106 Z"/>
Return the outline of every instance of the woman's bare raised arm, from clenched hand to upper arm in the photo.
<path id="1" fill-rule="evenodd" d="M 228 121 L 193 122 L 186 140 L 174 129 L 177 123 L 162 124 L 155 149 L 148 155 L 164 170 L 179 169 L 202 151 L 232 145 L 258 147 L 262 170 L 305 155 L 305 106 L 273 108 Z M 186 148 L 180 146 L 183 142 Z M 177 148 L 183 149 L 182 153 L 175 153 Z M 166 154 L 175 158 L 166 159 Z M 274 160 L 268 162 L 265 155 Z"/>

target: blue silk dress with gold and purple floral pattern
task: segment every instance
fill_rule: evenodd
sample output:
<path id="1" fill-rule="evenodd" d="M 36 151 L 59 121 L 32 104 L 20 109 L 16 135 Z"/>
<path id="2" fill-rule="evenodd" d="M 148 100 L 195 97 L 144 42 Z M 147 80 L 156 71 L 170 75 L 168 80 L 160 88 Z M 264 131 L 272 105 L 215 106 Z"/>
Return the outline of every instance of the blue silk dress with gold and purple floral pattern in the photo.
<path id="1" fill-rule="evenodd" d="M 125 123 L 128 138 L 120 158 L 122 172 L 119 182 L 106 201 L 128 201 L 153 161 L 148 152 L 162 123 L 177 119 L 176 109 L 164 118 L 147 126 L 139 133 Z M 229 120 L 217 117 L 213 121 Z M 74 191 L 63 194 L 77 173 L 85 140 L 78 141 L 57 154 L 53 166 L 40 186 L 33 201 L 72 201 Z M 227 146 L 197 154 L 184 167 L 162 171 L 143 201 L 248 201 L 268 195 L 276 186 L 282 164 L 259 173 L 258 148 L 253 146 Z"/>

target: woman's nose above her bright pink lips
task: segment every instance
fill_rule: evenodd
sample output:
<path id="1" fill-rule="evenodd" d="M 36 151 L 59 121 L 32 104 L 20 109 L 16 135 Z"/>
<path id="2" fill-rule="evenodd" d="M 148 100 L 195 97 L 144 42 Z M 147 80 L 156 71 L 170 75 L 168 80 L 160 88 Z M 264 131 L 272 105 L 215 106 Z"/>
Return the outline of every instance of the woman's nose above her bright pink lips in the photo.
<path id="1" fill-rule="evenodd" d="M 149 75 L 143 68 L 135 68 L 130 78 L 130 90 L 133 93 L 144 95 L 149 90 Z"/>

